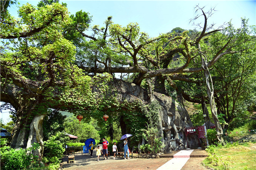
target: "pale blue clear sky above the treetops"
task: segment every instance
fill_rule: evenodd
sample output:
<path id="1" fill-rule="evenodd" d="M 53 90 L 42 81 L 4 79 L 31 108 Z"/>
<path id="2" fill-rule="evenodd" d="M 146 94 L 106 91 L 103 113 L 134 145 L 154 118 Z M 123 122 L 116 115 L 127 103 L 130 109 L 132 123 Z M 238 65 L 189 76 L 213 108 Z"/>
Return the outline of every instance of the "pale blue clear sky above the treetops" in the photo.
<path id="1" fill-rule="evenodd" d="M 38 1 L 18 1 L 21 5 L 26 2 L 37 6 Z M 142 32 L 155 37 L 166 33 L 175 27 L 194 29 L 189 20 L 195 16 L 195 6 L 204 11 L 215 8 L 215 14 L 209 18 L 208 23 L 216 26 L 232 20 L 235 27 L 241 25 L 241 18 L 249 18 L 249 25 L 256 25 L 256 0 L 244 1 L 60 1 L 67 3 L 70 14 L 77 11 L 89 12 L 93 16 L 92 25 L 104 26 L 108 16 L 113 16 L 113 22 L 126 26 L 133 22 L 138 23 Z M 12 15 L 17 16 L 17 6 L 9 8 Z M 202 22 L 199 20 L 198 22 Z M 8 111 L 3 111 L 1 118 L 9 122 Z"/>

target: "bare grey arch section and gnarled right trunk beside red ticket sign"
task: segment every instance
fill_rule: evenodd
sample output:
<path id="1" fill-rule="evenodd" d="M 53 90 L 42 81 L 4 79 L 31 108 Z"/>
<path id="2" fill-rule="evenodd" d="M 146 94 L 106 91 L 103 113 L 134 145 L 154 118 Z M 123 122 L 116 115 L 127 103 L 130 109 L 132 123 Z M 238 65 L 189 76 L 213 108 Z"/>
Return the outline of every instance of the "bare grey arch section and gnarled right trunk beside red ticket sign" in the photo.
<path id="1" fill-rule="evenodd" d="M 161 93 L 152 92 L 151 98 L 148 97 L 148 91 L 134 83 L 127 83 L 121 80 L 114 80 L 111 82 L 112 86 L 116 87 L 118 102 L 128 101 L 130 103 L 137 102 L 138 99 L 143 104 L 148 104 L 150 101 L 157 100 L 160 104 L 159 110 L 159 137 L 165 143 L 164 152 L 170 150 L 181 150 L 187 148 L 185 137 L 185 128 L 192 127 L 190 117 L 183 106 L 182 95 L 178 95 L 175 100 L 169 96 Z M 122 134 L 125 134 L 125 125 L 122 125 Z M 198 139 L 196 136 L 189 137 L 189 147 L 198 147 Z"/>

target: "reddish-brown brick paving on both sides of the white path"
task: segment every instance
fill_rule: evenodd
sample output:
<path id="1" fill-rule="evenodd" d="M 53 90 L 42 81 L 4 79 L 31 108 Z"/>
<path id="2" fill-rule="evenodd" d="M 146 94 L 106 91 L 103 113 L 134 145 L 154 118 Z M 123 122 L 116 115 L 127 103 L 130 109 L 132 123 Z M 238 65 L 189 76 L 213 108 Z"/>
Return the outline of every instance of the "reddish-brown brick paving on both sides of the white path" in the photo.
<path id="1" fill-rule="evenodd" d="M 178 151 L 167 153 L 161 156 L 169 156 L 167 158 L 149 158 L 149 159 L 141 159 L 141 158 L 132 158 L 132 159 L 123 159 L 116 158 L 113 159 L 113 156 L 108 156 L 108 160 L 103 160 L 103 156 L 100 157 L 99 162 L 97 161 L 96 153 L 93 153 L 93 158 L 90 158 L 88 153 L 81 155 L 81 153 L 75 154 L 75 163 L 67 163 L 67 157 L 63 158 L 62 161 L 62 170 L 113 170 L 113 169 L 122 169 L 122 170 L 156 170 L 157 168 L 165 165 L 166 162 L 171 160 L 175 160 L 177 158 L 172 158 Z M 191 153 L 191 151 L 190 151 Z M 190 156 L 194 155 L 206 155 L 205 150 L 194 150 Z M 186 158 L 187 162 L 181 166 L 181 170 L 206 170 L 203 166 L 201 166 L 200 162 L 203 161 L 204 158 Z M 174 161 L 177 162 L 177 161 Z M 166 166 L 166 170 L 172 170 L 173 165 Z"/>

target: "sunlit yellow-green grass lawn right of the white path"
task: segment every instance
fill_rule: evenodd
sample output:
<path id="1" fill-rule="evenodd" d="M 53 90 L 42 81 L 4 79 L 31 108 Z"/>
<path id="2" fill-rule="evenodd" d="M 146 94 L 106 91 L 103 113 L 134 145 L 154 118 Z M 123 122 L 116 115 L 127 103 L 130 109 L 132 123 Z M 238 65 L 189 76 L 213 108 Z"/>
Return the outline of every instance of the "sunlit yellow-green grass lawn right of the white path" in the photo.
<path id="1" fill-rule="evenodd" d="M 210 164 L 209 159 L 204 159 L 203 163 L 216 170 L 256 170 L 256 143 L 238 144 L 238 146 L 216 147 L 216 156 L 219 157 L 217 166 Z M 229 157 L 230 156 L 230 157 Z M 225 166 L 226 165 L 226 168 Z"/>

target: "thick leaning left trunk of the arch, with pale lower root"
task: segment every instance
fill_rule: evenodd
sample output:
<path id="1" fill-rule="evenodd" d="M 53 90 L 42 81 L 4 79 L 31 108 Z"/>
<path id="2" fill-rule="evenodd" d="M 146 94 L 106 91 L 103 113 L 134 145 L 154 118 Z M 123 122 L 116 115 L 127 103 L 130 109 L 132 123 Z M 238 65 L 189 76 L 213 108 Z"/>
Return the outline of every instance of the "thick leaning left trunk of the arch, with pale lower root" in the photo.
<path id="1" fill-rule="evenodd" d="M 1 86 L 1 101 L 11 104 L 16 111 L 17 121 L 12 130 L 10 146 L 15 149 L 27 149 L 34 142 L 39 143 L 40 148 L 35 150 L 35 155 L 42 155 L 42 123 L 45 115 L 41 115 L 37 111 L 40 96 L 34 95 L 29 89 L 16 85 L 6 85 Z"/>

